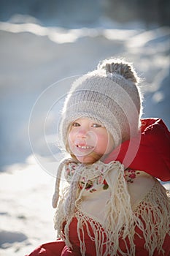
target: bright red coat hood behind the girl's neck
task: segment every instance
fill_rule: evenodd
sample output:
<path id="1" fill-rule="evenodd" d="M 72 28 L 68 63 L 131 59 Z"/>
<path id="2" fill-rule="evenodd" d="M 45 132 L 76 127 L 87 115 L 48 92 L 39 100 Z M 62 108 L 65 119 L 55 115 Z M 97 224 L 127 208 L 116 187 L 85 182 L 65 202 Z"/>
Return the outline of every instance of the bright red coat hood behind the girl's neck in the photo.
<path id="1" fill-rule="evenodd" d="M 137 139 L 132 143 L 136 145 Z M 104 160 L 109 163 L 112 160 L 123 162 L 128 150 L 129 140 L 117 147 L 109 157 Z M 117 152 L 119 154 L 117 155 Z M 146 173 L 161 179 L 170 181 L 170 132 L 160 118 L 142 119 L 142 135 L 139 149 L 130 165 L 123 164 L 134 170 L 143 170 Z"/>

